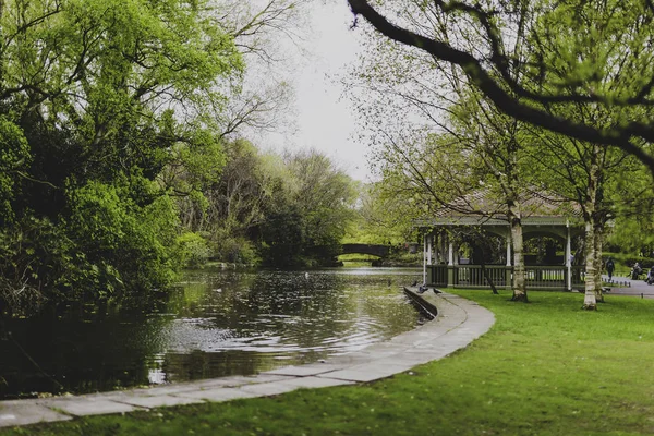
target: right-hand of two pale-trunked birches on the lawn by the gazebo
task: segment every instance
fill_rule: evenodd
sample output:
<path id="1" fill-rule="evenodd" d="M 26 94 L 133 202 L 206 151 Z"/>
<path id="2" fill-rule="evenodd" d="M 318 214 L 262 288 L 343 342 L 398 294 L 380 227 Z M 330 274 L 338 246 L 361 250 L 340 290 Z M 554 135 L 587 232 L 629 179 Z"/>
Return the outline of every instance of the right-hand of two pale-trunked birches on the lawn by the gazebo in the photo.
<path id="1" fill-rule="evenodd" d="M 549 73 L 559 77 L 570 76 L 572 70 L 577 69 L 579 81 L 557 84 L 559 92 L 572 94 L 579 87 L 592 87 L 598 94 L 627 93 L 633 87 L 632 77 L 629 76 L 633 72 L 633 59 L 616 50 L 633 36 L 635 29 L 630 25 L 623 27 L 621 19 L 625 13 L 618 2 L 592 2 L 578 8 L 560 5 L 536 17 L 531 40 L 536 49 L 532 49 L 530 56 L 537 53 L 538 60 L 548 65 Z M 570 22 L 580 25 L 574 35 L 574 40 L 579 43 L 567 47 L 559 32 L 565 32 Z M 638 53 L 632 55 L 638 57 Z M 553 83 L 546 85 L 554 86 Z M 548 105 L 544 110 L 597 129 L 625 119 L 651 118 L 649 106 Z M 642 140 L 631 142 L 645 149 Z M 596 301 L 603 300 L 602 245 L 606 222 L 614 217 L 610 189 L 615 184 L 611 179 L 625 174 L 622 171 L 631 170 L 632 166 L 623 149 L 606 148 L 596 142 L 547 134 L 541 135 L 536 144 L 536 153 L 546 157 L 536 160 L 536 165 L 550 164 L 544 183 L 558 183 L 559 191 L 562 190 L 570 199 L 576 201 L 582 210 L 586 229 L 584 307 L 594 310 Z"/>

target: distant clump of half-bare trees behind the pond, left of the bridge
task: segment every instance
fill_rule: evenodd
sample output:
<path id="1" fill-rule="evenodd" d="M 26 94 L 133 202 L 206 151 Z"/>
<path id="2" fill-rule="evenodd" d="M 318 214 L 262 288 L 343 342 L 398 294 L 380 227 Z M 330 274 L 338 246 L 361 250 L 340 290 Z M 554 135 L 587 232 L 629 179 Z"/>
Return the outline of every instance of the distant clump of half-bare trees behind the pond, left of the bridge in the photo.
<path id="1" fill-rule="evenodd" d="M 207 241 L 207 256 L 289 267 L 338 254 L 356 198 L 342 170 L 315 150 L 261 154 L 243 140 L 225 148 L 221 177 L 181 203 L 185 227 Z"/>

